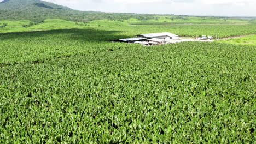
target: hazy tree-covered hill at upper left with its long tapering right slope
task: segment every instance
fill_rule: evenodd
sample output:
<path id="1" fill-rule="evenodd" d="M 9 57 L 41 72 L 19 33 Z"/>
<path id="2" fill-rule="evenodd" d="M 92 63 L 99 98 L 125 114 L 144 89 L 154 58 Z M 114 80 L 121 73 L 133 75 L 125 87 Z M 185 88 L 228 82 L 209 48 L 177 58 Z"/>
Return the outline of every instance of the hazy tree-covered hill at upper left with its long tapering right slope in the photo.
<path id="1" fill-rule="evenodd" d="M 100 13 L 79 11 L 61 5 L 40 0 L 4 0 L 0 3 L 0 20 L 32 20 L 42 22 L 45 19 L 65 19 L 89 22 L 92 20 L 138 20 L 150 19 L 150 14 Z"/>

